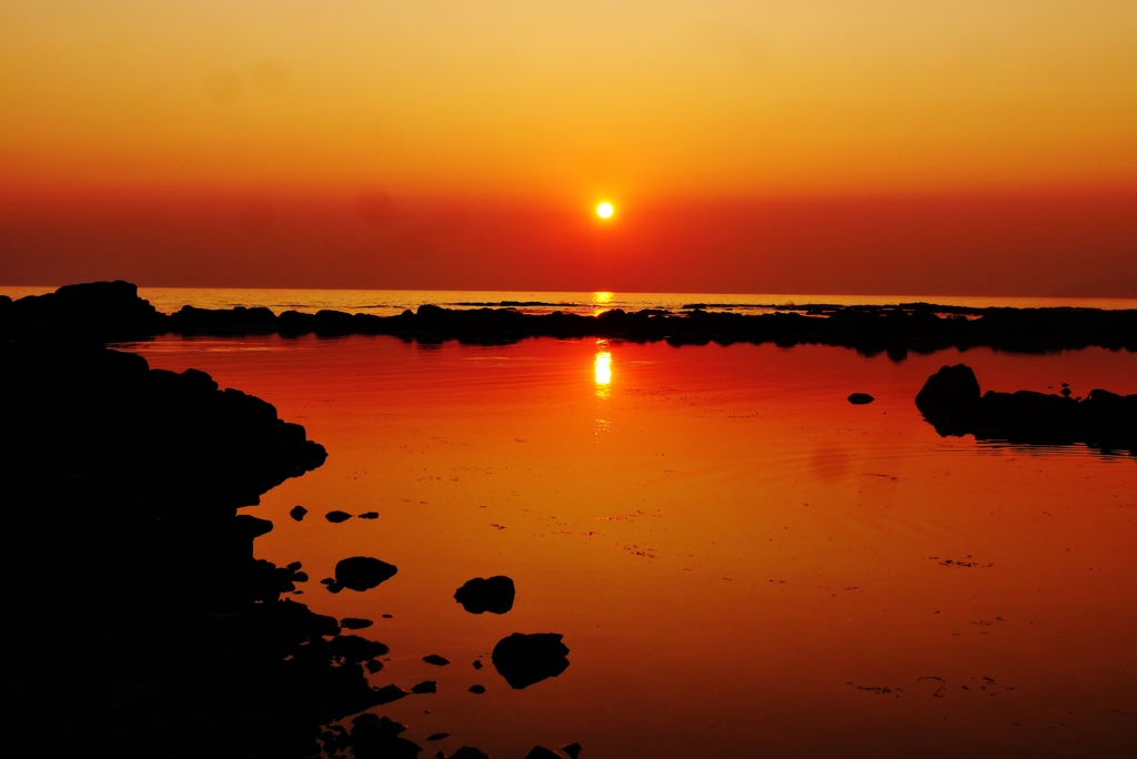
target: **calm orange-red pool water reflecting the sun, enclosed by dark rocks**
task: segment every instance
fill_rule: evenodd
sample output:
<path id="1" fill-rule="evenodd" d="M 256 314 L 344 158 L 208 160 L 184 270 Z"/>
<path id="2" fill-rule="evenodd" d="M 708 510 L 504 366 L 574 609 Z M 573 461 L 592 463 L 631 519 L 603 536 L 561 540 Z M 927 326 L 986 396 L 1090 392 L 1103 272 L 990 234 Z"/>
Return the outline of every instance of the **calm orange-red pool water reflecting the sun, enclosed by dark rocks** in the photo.
<path id="1" fill-rule="evenodd" d="M 273 402 L 327 448 L 322 468 L 249 509 L 275 524 L 256 551 L 304 562 L 298 600 L 314 610 L 375 620 L 360 632 L 391 656 L 374 685 L 438 681 L 376 709 L 423 756 L 572 741 L 587 759 L 1137 745 L 1137 462 L 941 439 L 913 404 L 960 360 L 985 390 L 1135 393 L 1137 355 L 894 362 L 384 336 L 134 349 Z M 878 400 L 853 407 L 853 391 Z M 333 525 L 333 509 L 380 518 Z M 366 593 L 318 584 L 356 554 L 399 572 Z M 509 614 L 454 602 L 496 574 L 516 582 Z M 523 691 L 472 667 L 514 632 L 562 633 L 571 666 Z M 441 731 L 453 737 L 423 743 Z"/>

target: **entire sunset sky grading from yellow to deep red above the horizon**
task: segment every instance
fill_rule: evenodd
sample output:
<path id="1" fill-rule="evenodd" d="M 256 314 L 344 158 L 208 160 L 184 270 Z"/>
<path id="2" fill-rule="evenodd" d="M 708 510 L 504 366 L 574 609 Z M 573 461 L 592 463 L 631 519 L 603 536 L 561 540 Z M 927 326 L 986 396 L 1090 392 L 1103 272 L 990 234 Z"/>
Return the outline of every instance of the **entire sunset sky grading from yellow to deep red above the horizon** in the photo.
<path id="1" fill-rule="evenodd" d="M 6 0 L 0 283 L 1137 297 L 1135 40 L 1131 0 Z"/>

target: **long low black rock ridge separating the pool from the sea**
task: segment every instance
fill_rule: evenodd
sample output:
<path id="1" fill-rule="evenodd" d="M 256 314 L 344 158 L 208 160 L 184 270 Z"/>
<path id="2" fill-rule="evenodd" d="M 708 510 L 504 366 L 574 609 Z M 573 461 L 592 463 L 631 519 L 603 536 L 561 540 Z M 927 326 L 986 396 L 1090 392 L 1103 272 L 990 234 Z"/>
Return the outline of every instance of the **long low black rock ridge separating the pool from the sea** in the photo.
<path id="1" fill-rule="evenodd" d="M 692 308 L 687 314 L 614 309 L 598 316 L 554 311 L 522 314 L 513 308 L 451 310 L 421 306 L 417 312 L 380 317 L 323 310 L 317 314 L 266 308 L 207 310 L 184 307 L 158 314 L 124 282 L 61 287 L 50 295 L 0 302 L 0 330 L 68 327 L 105 340 L 157 334 L 242 335 L 387 334 L 421 343 L 458 340 L 501 344 L 525 337 L 615 337 L 666 340 L 672 345 L 735 342 L 843 345 L 902 360 L 908 351 L 990 347 L 1003 351 L 1047 352 L 1092 345 L 1137 350 L 1137 311 L 1082 308 L 962 308 L 932 303 L 896 306 L 783 306 L 777 312 L 742 315 Z"/>

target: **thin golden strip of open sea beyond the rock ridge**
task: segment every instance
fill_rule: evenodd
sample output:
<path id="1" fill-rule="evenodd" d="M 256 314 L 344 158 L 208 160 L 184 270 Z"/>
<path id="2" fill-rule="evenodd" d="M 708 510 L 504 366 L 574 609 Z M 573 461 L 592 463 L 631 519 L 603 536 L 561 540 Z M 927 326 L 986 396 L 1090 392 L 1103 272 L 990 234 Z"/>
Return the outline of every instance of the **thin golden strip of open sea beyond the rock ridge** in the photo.
<path id="1" fill-rule="evenodd" d="M 39 295 L 55 287 L 0 286 L 11 298 Z M 565 311 L 598 314 L 613 308 L 625 311 L 663 309 L 681 311 L 699 306 L 707 310 L 771 311 L 803 305 L 887 306 L 928 302 L 984 308 L 1053 308 L 1061 306 L 1102 309 L 1137 309 L 1137 299 L 1120 298 L 997 298 L 962 295 L 827 295 L 800 293 L 658 293 L 658 292 L 548 292 L 488 290 L 274 290 L 238 287 L 139 287 L 139 294 L 159 310 L 172 314 L 183 306 L 233 308 L 263 306 L 275 312 L 332 309 L 351 314 L 393 316 L 424 303 L 445 308 L 513 307 L 529 314 Z"/>

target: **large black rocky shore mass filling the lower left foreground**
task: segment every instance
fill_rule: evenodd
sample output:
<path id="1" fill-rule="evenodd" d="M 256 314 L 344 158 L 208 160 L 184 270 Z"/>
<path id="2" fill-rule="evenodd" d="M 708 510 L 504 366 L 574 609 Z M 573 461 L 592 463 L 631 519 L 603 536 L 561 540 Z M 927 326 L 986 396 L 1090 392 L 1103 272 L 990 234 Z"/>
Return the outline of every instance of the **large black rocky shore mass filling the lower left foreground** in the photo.
<path id="1" fill-rule="evenodd" d="M 56 300 L 86 308 L 89 292 Z M 105 318 L 142 312 L 122 306 Z M 0 562 L 23 620 L 0 626 L 7 752 L 313 757 L 340 740 L 322 725 L 382 700 L 364 662 L 387 647 L 281 600 L 307 574 L 255 559 L 272 525 L 236 514 L 324 461 L 302 427 L 201 372 L 99 347 L 3 342 L 0 368 L 16 443 Z M 78 651 L 76 707 L 61 694 Z M 372 729 L 356 725 L 357 757 Z"/>

